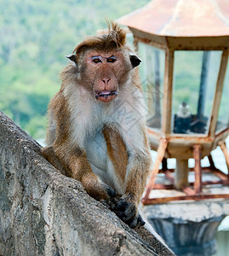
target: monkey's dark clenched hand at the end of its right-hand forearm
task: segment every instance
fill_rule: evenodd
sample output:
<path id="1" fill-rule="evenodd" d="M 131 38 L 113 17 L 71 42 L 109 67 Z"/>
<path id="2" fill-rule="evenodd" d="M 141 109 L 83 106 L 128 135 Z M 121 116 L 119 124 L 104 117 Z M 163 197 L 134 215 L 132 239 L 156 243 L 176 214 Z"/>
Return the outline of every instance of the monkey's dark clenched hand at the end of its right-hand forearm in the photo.
<path id="1" fill-rule="evenodd" d="M 138 224 L 144 225 L 144 220 L 138 213 L 138 207 L 135 201 L 131 199 L 130 195 L 123 195 L 123 197 L 117 202 L 114 212 L 124 223 L 128 224 L 130 228 L 134 229 Z"/>

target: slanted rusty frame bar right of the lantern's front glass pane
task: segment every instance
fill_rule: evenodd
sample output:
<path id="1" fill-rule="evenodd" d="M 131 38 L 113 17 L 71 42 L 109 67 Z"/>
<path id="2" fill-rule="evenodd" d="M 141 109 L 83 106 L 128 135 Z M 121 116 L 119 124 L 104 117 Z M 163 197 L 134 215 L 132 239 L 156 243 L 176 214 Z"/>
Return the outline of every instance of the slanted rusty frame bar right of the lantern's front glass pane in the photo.
<path id="1" fill-rule="evenodd" d="M 224 78 L 226 74 L 226 66 L 228 61 L 228 50 L 224 50 L 221 56 L 220 70 L 215 87 L 215 98 L 212 106 L 211 119 L 209 125 L 209 137 L 215 137 L 215 130 L 218 120 L 220 101 L 223 91 Z"/>

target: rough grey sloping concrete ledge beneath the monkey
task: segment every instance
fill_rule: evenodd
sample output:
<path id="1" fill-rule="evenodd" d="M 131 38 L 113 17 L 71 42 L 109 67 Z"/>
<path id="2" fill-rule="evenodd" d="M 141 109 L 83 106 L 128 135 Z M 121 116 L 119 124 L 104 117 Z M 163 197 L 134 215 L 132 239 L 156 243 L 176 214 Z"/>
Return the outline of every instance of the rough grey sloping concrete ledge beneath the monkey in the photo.
<path id="1" fill-rule="evenodd" d="M 145 228 L 137 232 L 0 112 L 0 255 L 173 255 Z"/>

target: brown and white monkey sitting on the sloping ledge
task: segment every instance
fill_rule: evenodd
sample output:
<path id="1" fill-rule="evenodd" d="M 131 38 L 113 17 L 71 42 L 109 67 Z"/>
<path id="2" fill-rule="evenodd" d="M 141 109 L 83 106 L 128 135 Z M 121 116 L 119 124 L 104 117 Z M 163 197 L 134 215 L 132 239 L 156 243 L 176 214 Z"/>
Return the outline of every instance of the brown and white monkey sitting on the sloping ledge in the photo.
<path id="1" fill-rule="evenodd" d="M 115 22 L 66 57 L 60 90 L 49 103 L 42 154 L 129 227 L 143 225 L 138 206 L 152 159 L 140 58 Z"/>

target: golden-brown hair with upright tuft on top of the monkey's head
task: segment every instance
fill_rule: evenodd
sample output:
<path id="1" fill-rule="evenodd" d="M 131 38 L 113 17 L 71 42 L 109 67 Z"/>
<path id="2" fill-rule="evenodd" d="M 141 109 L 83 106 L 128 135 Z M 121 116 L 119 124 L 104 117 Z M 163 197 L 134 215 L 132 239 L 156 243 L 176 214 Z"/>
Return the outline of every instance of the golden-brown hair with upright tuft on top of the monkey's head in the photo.
<path id="1" fill-rule="evenodd" d="M 115 22 L 107 21 L 108 33 L 100 36 L 91 36 L 86 38 L 81 44 L 73 50 L 72 53 L 79 54 L 85 49 L 96 49 L 109 52 L 112 49 L 121 48 L 126 42 L 126 32 Z"/>

